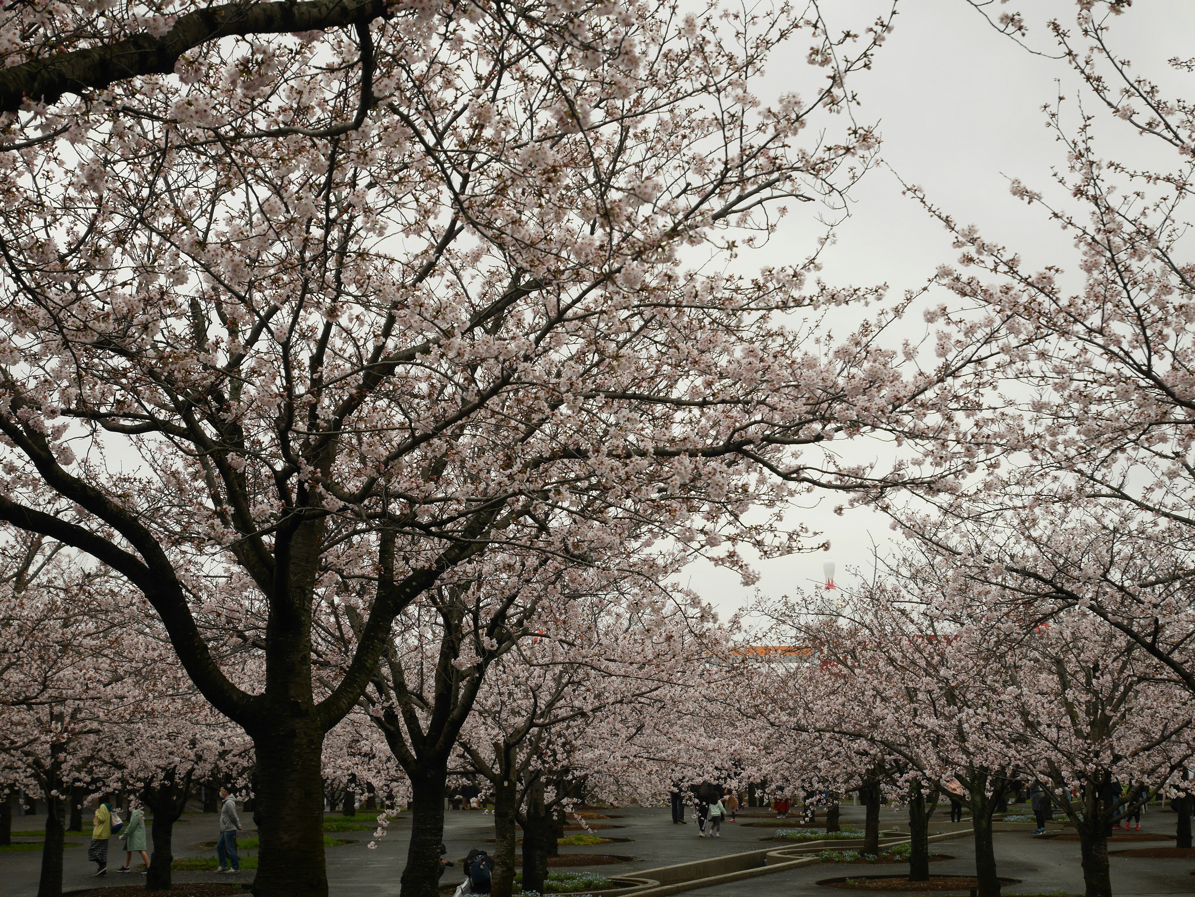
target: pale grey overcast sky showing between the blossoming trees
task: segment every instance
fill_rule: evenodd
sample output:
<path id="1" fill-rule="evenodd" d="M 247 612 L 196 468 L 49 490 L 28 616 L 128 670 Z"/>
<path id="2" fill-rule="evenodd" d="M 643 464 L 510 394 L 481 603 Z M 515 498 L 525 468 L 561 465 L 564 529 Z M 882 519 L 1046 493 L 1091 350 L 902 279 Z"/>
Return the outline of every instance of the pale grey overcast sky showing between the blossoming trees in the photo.
<path id="1" fill-rule="evenodd" d="M 822 0 L 821 6 L 832 21 L 856 29 L 866 21 L 868 11 L 880 8 L 870 0 Z M 989 8 L 1025 12 L 1032 25 L 1027 43 L 1047 53 L 1056 53 L 1056 48 L 1044 23 L 1056 17 L 1074 24 L 1072 0 L 1010 0 L 1006 6 L 995 2 Z M 1009 178 L 1013 177 L 1035 189 L 1048 189 L 1052 167 L 1065 164 L 1053 133 L 1044 127 L 1042 105 L 1054 102 L 1061 91 L 1072 112 L 1077 112 L 1077 100 L 1083 100 L 1089 112 L 1099 113 L 1099 136 L 1109 149 L 1140 154 L 1148 152 L 1145 141 L 1110 124 L 1064 62 L 1017 47 L 966 0 L 902 0 L 901 10 L 875 69 L 852 84 L 863 99 L 857 118 L 880 122 L 884 160 L 907 183 L 925 188 L 931 201 L 957 221 L 975 223 L 989 239 L 1016 247 L 1028 265 L 1050 263 L 1073 269 L 1070 241 L 1038 207 L 1027 208 L 1009 192 Z M 1165 64 L 1175 56 L 1195 55 L 1190 39 L 1195 35 L 1195 0 L 1139 0 L 1111 26 L 1114 49 L 1134 61 L 1135 72 L 1173 86 L 1187 98 L 1195 94 L 1195 79 L 1179 76 Z M 808 37 L 803 38 L 793 53 L 772 63 L 770 87 L 811 96 L 815 81 L 803 62 L 808 43 Z M 825 258 L 822 276 L 827 282 L 887 282 L 893 295 L 901 295 L 956 257 L 942 227 L 901 196 L 890 172 L 870 172 L 853 198 L 851 219 Z M 785 253 L 797 260 L 808 252 L 813 231 L 798 216 L 809 210 L 808 205 L 793 210 L 780 239 L 767 248 L 772 253 L 768 262 Z M 884 449 L 877 446 L 876 450 Z M 865 510 L 838 517 L 832 509 L 840 503 L 840 496 L 829 496 L 790 515 L 821 530 L 831 540 L 829 553 L 761 563 L 761 580 L 755 588 L 773 596 L 799 585 L 808 588 L 821 578 L 827 559 L 842 573 L 851 565 L 870 566 L 872 541 L 883 549 L 890 547 L 893 534 L 885 520 Z M 724 613 L 742 607 L 755 591 L 743 586 L 737 575 L 707 564 L 690 567 L 682 582 Z"/>

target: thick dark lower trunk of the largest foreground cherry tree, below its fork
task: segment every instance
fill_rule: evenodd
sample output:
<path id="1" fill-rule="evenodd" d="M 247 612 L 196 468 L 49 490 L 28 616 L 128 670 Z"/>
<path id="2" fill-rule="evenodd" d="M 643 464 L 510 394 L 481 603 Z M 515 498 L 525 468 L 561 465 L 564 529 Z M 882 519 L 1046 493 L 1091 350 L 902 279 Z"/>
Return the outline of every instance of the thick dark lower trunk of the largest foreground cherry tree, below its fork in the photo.
<path id="1" fill-rule="evenodd" d="M 256 897 L 327 897 L 324 862 L 324 732 L 295 701 L 294 715 L 255 731 Z M 412 836 L 413 840 L 413 836 Z M 437 861 L 439 861 L 439 842 Z M 407 866 L 410 868 L 410 865 Z"/>

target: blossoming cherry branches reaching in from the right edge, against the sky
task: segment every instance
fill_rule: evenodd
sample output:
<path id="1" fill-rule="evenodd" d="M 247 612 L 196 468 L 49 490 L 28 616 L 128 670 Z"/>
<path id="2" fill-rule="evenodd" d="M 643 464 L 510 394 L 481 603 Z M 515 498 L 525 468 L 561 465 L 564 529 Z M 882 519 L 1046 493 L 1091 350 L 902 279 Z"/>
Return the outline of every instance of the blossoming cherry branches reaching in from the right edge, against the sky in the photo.
<path id="1" fill-rule="evenodd" d="M 1130 66 L 1116 53 L 1114 25 L 1130 18 L 1128 7 L 1078 2 L 1073 26 L 1047 25 L 1083 105 L 1060 97 L 1046 110 L 1065 153 L 1055 183 L 1010 184 L 1073 240 L 1072 256 L 1031 270 L 1018 247 L 912 189 L 960 250 L 939 281 L 962 302 L 931 317 L 960 328 L 1003 321 L 1010 377 L 999 407 L 969 434 L 978 459 L 1005 466 L 925 497 L 992 533 L 991 549 L 976 557 L 1004 565 L 1010 579 L 995 579 L 1010 588 L 1017 579 L 1016 590 L 1042 607 L 1086 607 L 1195 690 L 1195 268 L 1184 242 L 1195 107 L 1151 80 L 1153 61 Z M 1037 37 L 1017 13 L 993 24 L 1017 39 Z M 1172 85 L 1195 72 L 1189 60 L 1166 67 Z M 936 527 L 930 516 L 911 529 L 933 539 Z M 1009 536 L 1016 553 L 1004 551 Z"/>

